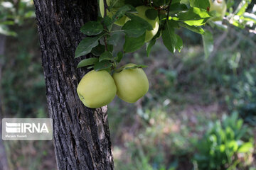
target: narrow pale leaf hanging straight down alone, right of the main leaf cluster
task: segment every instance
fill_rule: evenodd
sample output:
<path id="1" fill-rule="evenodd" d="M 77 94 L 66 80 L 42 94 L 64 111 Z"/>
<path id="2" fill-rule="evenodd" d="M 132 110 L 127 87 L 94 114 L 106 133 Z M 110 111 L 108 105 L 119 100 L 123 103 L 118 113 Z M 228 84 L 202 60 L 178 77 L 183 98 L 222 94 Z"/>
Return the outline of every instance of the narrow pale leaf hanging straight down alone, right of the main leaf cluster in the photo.
<path id="1" fill-rule="evenodd" d="M 208 58 L 210 52 L 213 52 L 213 34 L 210 33 L 210 31 L 206 30 L 206 32 L 202 35 L 202 38 L 205 57 Z"/>

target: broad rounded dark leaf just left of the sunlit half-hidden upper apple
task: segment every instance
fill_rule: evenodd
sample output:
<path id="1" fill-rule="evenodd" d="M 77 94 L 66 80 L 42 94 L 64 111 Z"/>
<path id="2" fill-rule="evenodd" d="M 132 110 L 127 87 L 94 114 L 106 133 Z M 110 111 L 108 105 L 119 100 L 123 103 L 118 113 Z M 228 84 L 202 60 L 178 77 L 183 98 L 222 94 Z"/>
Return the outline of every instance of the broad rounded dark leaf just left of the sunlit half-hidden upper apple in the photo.
<path id="1" fill-rule="evenodd" d="M 124 33 L 126 33 L 129 37 L 139 37 L 145 33 L 146 26 L 135 21 L 128 21 L 124 24 L 122 30 L 124 30 Z"/>

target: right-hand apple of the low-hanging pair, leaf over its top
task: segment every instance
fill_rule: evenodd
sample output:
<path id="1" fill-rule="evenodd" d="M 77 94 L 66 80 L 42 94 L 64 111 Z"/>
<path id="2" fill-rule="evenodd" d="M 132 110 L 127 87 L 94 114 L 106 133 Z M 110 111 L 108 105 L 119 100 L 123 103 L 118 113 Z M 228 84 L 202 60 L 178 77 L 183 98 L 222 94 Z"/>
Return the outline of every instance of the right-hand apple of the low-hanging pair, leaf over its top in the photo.
<path id="1" fill-rule="evenodd" d="M 136 64 L 126 64 L 122 68 L 134 67 Z M 113 74 L 117 86 L 117 96 L 123 101 L 134 103 L 149 90 L 149 81 L 143 69 L 123 69 Z"/>

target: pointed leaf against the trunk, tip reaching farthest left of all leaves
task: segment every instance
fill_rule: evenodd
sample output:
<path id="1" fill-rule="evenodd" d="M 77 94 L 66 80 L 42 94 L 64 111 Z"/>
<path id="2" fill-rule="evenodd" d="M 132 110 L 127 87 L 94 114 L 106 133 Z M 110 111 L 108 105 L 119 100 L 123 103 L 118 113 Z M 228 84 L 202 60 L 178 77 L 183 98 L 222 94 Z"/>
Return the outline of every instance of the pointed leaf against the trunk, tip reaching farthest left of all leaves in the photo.
<path id="1" fill-rule="evenodd" d="M 99 40 L 102 36 L 98 35 L 96 37 L 87 37 L 80 41 L 77 49 L 75 50 L 75 58 L 82 55 L 87 55 L 92 51 L 93 47 L 99 44 Z"/>

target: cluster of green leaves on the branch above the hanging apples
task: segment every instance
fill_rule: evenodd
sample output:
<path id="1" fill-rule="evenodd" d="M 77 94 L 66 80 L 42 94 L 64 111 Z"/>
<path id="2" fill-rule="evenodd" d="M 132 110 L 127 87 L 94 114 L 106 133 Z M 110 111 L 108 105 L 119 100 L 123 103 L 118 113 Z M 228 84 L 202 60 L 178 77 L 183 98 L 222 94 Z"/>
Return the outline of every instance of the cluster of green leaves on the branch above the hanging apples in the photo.
<path id="1" fill-rule="evenodd" d="M 230 3 L 228 1 L 228 6 L 230 6 Z M 87 59 L 82 60 L 78 67 L 112 70 L 122 60 L 125 53 L 139 50 L 145 44 L 146 54 L 149 57 L 151 48 L 160 37 L 170 52 L 180 52 L 183 47 L 183 40 L 176 34 L 176 30 L 180 28 L 186 28 L 203 36 L 204 50 L 206 57 L 208 57 L 210 52 L 213 51 L 213 35 L 210 31 L 204 30 L 203 26 L 208 23 L 212 27 L 225 27 L 210 21 L 213 13 L 209 12 L 210 2 L 208 0 L 124 0 L 124 4 L 124 6 L 114 9 L 113 6 L 105 6 L 105 10 L 114 12 L 112 17 L 104 16 L 103 18 L 98 18 L 97 21 L 89 21 L 82 26 L 81 32 L 87 35 L 87 37 L 78 45 L 75 57 L 81 57 L 91 52 L 95 55 L 95 59 L 93 62 Z M 255 22 L 254 16 L 245 13 L 248 4 L 250 4 L 250 0 L 246 0 L 244 5 L 240 5 L 235 14 L 246 18 L 245 21 Z M 137 13 L 136 7 L 142 5 L 151 7 L 145 12 L 148 20 L 154 20 L 158 17 L 160 21 L 158 33 L 149 42 L 145 42 L 145 37 L 146 31 L 153 29 L 151 24 L 143 18 L 134 15 Z M 112 30 L 113 24 L 122 17 L 129 19 L 126 20 L 124 26 L 120 27 L 119 30 Z M 233 22 L 233 25 L 235 25 L 235 22 Z M 242 26 L 238 25 L 238 27 Z M 114 46 L 119 45 L 120 36 L 125 38 L 122 51 L 113 56 Z"/>

